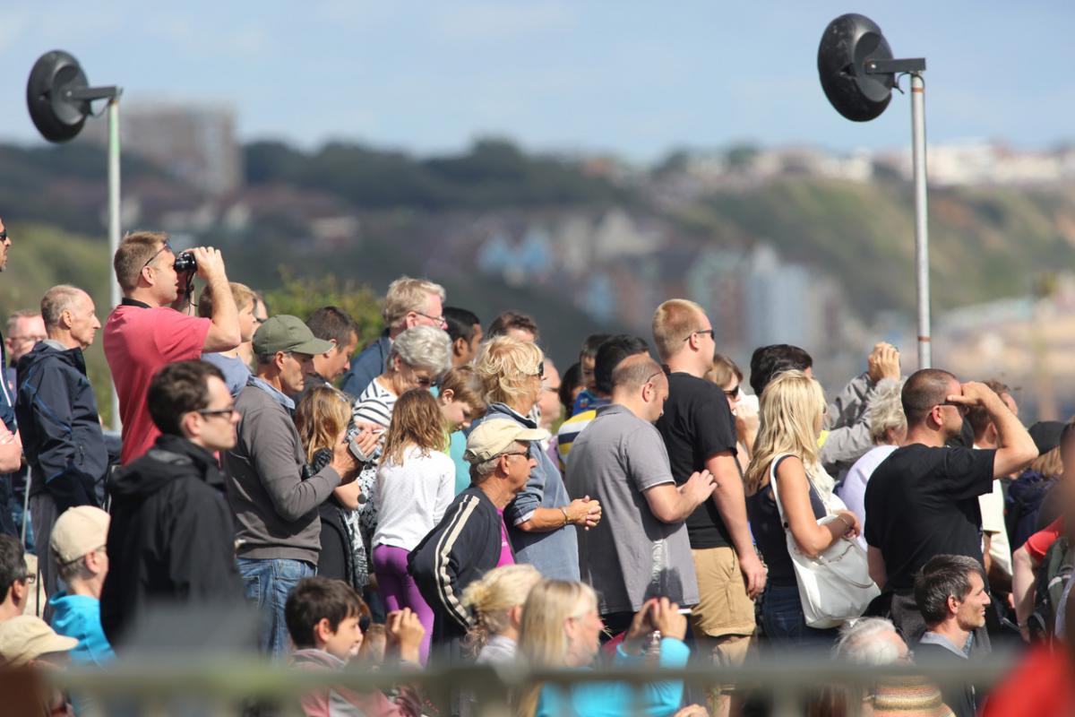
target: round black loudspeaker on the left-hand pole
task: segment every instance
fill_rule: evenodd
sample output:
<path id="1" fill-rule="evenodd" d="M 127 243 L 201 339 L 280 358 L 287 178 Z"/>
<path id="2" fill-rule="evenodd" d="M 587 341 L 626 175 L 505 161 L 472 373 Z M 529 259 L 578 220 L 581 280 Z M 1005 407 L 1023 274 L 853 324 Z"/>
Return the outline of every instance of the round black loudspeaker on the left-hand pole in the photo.
<path id="1" fill-rule="evenodd" d="M 84 90 L 88 85 L 78 60 L 62 49 L 38 58 L 26 83 L 26 103 L 42 137 L 49 142 L 67 142 L 77 137 L 90 113 L 89 100 L 75 99 L 70 92 Z"/>

